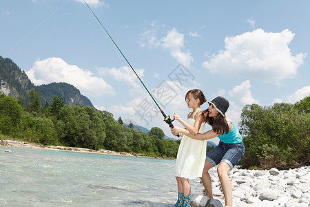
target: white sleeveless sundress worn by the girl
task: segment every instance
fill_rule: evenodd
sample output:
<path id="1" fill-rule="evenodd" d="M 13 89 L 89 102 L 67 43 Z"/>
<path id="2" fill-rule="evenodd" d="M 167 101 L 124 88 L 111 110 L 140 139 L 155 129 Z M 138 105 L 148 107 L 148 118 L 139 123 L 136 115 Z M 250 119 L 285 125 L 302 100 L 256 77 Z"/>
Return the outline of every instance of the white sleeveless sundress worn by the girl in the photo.
<path id="1" fill-rule="evenodd" d="M 195 119 L 189 118 L 187 119 L 187 123 L 194 126 Z M 205 131 L 205 122 L 203 122 L 198 132 L 202 134 Z M 207 140 L 201 141 L 183 135 L 180 146 L 178 147 L 178 155 L 176 155 L 174 175 L 187 179 L 201 177 L 203 175 L 203 167 L 205 166 L 206 150 Z"/>

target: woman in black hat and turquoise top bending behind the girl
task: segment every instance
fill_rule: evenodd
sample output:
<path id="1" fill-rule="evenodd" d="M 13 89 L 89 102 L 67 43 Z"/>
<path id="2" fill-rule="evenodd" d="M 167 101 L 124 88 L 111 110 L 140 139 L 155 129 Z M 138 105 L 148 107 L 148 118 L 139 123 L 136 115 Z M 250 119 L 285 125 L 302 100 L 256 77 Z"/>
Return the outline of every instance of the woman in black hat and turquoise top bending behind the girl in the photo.
<path id="1" fill-rule="evenodd" d="M 236 126 L 225 115 L 229 107 L 227 99 L 216 97 L 212 101 L 208 101 L 208 103 L 209 107 L 205 112 L 205 119 L 212 126 L 211 130 L 204 134 L 192 135 L 188 130 L 176 126 L 172 128 L 172 133 L 174 135 L 187 135 L 198 140 L 207 140 L 214 137 L 220 139 L 218 146 L 207 154 L 202 181 L 207 197 L 213 198 L 211 177 L 208 170 L 218 165 L 217 172 L 225 197 L 225 206 L 232 206 L 232 188 L 228 171 L 234 168 L 245 154 L 245 145 Z"/>

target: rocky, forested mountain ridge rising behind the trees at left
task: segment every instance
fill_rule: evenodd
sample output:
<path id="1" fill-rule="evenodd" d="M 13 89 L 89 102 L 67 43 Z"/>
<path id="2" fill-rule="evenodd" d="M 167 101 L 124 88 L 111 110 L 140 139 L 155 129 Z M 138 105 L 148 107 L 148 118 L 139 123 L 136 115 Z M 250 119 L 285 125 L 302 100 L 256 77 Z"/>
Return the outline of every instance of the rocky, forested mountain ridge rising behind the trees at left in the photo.
<path id="1" fill-rule="evenodd" d="M 46 102 L 52 103 L 54 96 L 59 96 L 67 105 L 90 106 L 94 108 L 92 102 L 87 97 L 81 95 L 79 89 L 68 83 L 50 83 L 48 85 L 34 86 L 25 71 L 23 71 L 11 59 L 0 57 L 0 93 L 23 99 L 23 103 L 28 103 L 28 93 L 30 90 L 38 92 L 41 106 Z"/>

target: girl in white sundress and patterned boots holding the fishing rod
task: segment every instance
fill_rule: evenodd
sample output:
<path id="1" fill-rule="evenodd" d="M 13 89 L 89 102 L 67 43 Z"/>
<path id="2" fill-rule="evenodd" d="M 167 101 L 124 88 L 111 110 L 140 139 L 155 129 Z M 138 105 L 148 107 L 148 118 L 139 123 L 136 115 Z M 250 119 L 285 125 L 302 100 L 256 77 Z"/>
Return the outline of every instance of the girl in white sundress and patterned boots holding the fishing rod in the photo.
<path id="1" fill-rule="evenodd" d="M 189 90 L 185 96 L 188 108 L 192 112 L 187 115 L 187 122 L 183 121 L 178 114 L 174 119 L 178 120 L 193 135 L 205 132 L 205 116 L 200 105 L 207 101 L 205 95 L 199 89 Z M 176 156 L 174 175 L 178 182 L 178 201 L 174 206 L 190 206 L 191 187 L 188 179 L 196 179 L 202 176 L 205 165 L 207 141 L 192 139 L 183 135 Z"/>

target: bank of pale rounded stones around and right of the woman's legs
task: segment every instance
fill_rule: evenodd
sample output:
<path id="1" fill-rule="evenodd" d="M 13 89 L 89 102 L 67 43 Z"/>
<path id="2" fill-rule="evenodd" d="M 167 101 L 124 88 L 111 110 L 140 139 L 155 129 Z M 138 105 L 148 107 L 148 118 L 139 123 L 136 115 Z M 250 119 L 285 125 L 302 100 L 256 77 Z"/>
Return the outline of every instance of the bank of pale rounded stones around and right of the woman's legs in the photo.
<path id="1" fill-rule="evenodd" d="M 290 170 L 229 171 L 233 188 L 233 206 L 301 207 L 310 206 L 310 166 Z M 211 175 L 214 199 L 192 195 L 192 206 L 225 206 L 217 173 Z M 203 190 L 203 185 L 201 185 Z M 213 204 L 211 204 L 213 203 Z M 222 203 L 222 204 L 220 204 Z"/>

